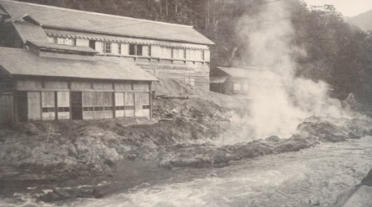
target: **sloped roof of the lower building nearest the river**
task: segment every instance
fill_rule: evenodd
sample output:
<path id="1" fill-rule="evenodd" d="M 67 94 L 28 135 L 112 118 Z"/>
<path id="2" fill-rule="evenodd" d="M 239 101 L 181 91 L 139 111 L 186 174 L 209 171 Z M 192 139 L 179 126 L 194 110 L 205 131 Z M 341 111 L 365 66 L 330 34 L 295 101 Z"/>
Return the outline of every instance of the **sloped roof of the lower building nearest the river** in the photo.
<path id="1" fill-rule="evenodd" d="M 39 57 L 30 50 L 0 47 L 0 68 L 9 75 L 42 77 L 71 77 L 84 79 L 111 79 L 133 81 L 157 81 L 157 79 L 125 61 L 106 61 L 96 57 L 95 61 Z"/>

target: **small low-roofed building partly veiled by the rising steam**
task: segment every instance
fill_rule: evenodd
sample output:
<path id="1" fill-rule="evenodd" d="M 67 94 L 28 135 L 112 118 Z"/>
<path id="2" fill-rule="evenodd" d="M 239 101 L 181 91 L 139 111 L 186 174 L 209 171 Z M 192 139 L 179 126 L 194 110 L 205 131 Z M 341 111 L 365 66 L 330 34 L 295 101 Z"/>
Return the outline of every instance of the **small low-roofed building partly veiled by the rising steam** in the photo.
<path id="1" fill-rule="evenodd" d="M 265 68 L 256 67 L 215 67 L 210 72 L 210 90 L 244 99 L 254 98 L 259 88 L 270 84 L 269 72 Z"/>

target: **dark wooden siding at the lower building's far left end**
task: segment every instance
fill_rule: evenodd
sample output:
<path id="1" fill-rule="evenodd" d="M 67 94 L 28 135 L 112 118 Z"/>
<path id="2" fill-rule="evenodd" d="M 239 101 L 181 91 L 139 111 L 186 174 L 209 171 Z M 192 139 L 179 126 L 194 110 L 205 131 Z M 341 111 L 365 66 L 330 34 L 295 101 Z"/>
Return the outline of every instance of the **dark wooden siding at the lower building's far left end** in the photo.
<path id="1" fill-rule="evenodd" d="M 13 94 L 0 93 L 0 125 L 9 125 L 13 119 Z"/>

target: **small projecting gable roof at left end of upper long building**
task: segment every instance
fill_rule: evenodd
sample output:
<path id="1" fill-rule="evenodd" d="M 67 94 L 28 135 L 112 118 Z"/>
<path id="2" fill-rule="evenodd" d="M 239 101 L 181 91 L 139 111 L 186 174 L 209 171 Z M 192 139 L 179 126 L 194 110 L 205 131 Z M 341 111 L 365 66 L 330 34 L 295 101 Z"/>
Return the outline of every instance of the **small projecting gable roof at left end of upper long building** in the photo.
<path id="1" fill-rule="evenodd" d="M 13 25 L 24 43 L 26 41 L 48 42 L 48 37 L 46 37 L 43 28 L 35 23 L 15 21 Z"/>

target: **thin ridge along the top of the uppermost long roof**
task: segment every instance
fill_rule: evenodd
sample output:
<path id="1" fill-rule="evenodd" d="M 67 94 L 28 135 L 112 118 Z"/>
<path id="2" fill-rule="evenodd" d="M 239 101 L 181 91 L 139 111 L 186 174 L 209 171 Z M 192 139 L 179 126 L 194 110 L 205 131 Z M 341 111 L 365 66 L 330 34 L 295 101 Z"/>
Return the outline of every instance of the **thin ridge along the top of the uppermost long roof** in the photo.
<path id="1" fill-rule="evenodd" d="M 120 16 L 120 15 L 113 15 L 113 14 L 104 14 L 104 13 L 100 13 L 100 12 L 89 12 L 89 11 L 84 11 L 84 10 L 74 10 L 74 9 L 71 9 L 71 8 L 62 8 L 62 7 L 58 7 L 58 6 L 48 6 L 48 5 L 44 5 L 44 4 L 38 4 L 38 3 L 29 3 L 29 2 L 13 1 L 13 0 L 0 0 L 0 1 L 26 4 L 26 5 L 30 5 L 30 6 L 40 6 L 40 7 L 44 7 L 44 8 L 54 8 L 54 9 L 58 9 L 58 10 L 68 10 L 68 11 L 73 11 L 73 12 L 82 12 L 82 13 L 86 13 L 86 14 L 96 14 L 96 15 L 102 15 L 102 16 L 106 16 L 106 17 L 118 17 L 118 18 L 122 18 L 122 19 L 135 19 L 135 20 L 138 20 L 138 21 L 147 21 L 147 22 L 151 22 L 151 23 L 160 23 L 160 24 L 171 25 L 171 26 L 180 26 L 180 27 L 185 27 L 185 28 L 194 28 L 194 26 L 183 25 L 183 24 L 178 24 L 178 23 L 167 23 L 167 22 L 162 22 L 162 21 L 154 21 L 154 20 L 148 20 L 148 19 L 138 19 L 138 18 L 133 18 L 133 17 L 124 17 L 124 16 Z"/>

